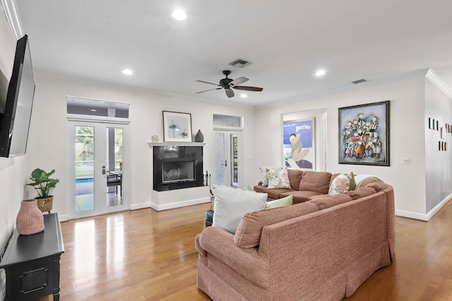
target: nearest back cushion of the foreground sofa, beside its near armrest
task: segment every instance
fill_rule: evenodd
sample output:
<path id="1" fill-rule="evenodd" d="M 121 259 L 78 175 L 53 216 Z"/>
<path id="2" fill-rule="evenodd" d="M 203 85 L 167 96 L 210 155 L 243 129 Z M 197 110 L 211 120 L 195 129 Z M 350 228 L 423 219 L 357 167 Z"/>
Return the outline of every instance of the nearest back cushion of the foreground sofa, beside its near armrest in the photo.
<path id="1" fill-rule="evenodd" d="M 299 203 L 293 206 L 246 213 L 240 220 L 234 235 L 234 244 L 242 248 L 256 247 L 261 240 L 262 228 L 266 225 L 304 216 L 319 211 L 314 203 Z"/>

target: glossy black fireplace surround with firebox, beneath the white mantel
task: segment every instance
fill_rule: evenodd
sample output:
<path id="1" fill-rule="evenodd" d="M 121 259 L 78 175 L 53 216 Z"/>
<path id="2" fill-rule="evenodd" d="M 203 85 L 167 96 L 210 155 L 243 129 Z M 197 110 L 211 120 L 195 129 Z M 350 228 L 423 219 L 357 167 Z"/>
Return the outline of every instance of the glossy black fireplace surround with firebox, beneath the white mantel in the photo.
<path id="1" fill-rule="evenodd" d="M 204 186 L 202 146 L 153 146 L 155 191 Z"/>

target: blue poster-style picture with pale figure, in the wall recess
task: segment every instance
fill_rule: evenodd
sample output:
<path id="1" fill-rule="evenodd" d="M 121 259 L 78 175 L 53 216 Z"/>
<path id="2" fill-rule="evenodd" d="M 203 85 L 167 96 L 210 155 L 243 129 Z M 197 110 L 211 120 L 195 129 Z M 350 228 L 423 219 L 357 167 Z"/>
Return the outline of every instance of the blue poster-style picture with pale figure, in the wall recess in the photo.
<path id="1" fill-rule="evenodd" d="M 285 166 L 298 170 L 315 170 L 314 118 L 283 122 Z"/>

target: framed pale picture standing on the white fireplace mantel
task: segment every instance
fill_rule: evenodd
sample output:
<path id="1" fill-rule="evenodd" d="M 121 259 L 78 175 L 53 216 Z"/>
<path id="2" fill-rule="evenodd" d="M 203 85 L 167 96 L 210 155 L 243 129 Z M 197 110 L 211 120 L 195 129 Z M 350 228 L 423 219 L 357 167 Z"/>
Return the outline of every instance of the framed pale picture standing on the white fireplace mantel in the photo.
<path id="1" fill-rule="evenodd" d="M 163 111 L 163 141 L 191 142 L 191 114 Z"/>

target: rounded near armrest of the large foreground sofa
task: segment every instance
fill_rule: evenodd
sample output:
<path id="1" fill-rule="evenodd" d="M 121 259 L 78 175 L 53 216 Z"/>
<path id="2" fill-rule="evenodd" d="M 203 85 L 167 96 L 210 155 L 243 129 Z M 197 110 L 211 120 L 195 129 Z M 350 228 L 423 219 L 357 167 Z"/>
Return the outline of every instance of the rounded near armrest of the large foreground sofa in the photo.
<path id="1" fill-rule="evenodd" d="M 260 275 L 257 278 L 268 275 L 269 271 L 268 261 L 258 254 L 257 248 L 244 249 L 237 247 L 234 244 L 234 235 L 217 227 L 204 229 L 196 239 L 199 240 L 199 246 L 208 255 L 215 256 L 245 278 L 257 281 L 256 284 L 266 285 L 266 283 L 263 283 L 265 281 L 258 281 L 256 278 L 252 279 L 256 275 Z"/>

